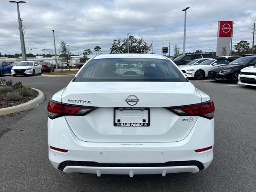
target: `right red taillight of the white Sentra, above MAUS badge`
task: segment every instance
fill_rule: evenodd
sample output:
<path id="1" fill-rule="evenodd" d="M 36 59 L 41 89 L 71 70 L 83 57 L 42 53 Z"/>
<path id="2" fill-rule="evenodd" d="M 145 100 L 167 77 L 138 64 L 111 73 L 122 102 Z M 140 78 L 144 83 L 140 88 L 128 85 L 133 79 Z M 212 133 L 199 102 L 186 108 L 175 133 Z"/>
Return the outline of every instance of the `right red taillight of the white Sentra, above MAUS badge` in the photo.
<path id="1" fill-rule="evenodd" d="M 167 107 L 167 109 L 178 116 L 202 116 L 208 119 L 214 117 L 215 110 L 212 100 L 188 106 Z"/>

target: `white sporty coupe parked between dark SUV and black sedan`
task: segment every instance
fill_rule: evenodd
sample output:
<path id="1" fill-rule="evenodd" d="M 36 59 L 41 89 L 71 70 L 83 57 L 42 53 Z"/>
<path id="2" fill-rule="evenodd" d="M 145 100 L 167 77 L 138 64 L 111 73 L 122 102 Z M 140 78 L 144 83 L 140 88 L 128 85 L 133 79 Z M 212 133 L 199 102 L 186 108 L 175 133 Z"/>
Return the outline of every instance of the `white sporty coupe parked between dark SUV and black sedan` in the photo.
<path id="1" fill-rule="evenodd" d="M 191 78 L 201 80 L 208 77 L 208 71 L 214 67 L 229 64 L 230 62 L 225 59 L 208 59 L 199 65 L 192 65 L 181 68 L 182 72 Z"/>

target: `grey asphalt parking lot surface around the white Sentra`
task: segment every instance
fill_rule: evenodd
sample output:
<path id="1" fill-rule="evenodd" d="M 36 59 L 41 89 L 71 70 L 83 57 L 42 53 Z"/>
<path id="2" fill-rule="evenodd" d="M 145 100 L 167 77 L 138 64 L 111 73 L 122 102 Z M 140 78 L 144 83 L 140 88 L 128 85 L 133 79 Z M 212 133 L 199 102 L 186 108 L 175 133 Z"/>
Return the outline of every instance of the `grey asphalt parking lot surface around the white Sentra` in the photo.
<path id="1" fill-rule="evenodd" d="M 0 118 L 0 191 L 255 191 L 256 89 L 192 80 L 214 100 L 215 145 L 210 167 L 196 174 L 66 174 L 48 160 L 46 106 L 72 77 L 4 76 L 44 92 L 37 108 Z"/>

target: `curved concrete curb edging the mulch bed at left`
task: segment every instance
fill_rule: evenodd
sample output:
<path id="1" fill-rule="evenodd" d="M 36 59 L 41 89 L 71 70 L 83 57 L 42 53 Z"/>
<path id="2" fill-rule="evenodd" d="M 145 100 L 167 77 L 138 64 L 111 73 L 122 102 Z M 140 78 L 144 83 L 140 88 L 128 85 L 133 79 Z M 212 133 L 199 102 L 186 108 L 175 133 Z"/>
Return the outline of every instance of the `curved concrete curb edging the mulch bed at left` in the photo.
<path id="1" fill-rule="evenodd" d="M 42 103 L 44 101 L 44 93 L 38 89 L 35 89 L 35 88 L 32 88 L 32 89 L 36 90 L 39 93 L 36 98 L 17 106 L 2 108 L 0 109 L 0 116 L 25 111 L 25 110 L 34 108 L 38 106 L 40 103 Z"/>

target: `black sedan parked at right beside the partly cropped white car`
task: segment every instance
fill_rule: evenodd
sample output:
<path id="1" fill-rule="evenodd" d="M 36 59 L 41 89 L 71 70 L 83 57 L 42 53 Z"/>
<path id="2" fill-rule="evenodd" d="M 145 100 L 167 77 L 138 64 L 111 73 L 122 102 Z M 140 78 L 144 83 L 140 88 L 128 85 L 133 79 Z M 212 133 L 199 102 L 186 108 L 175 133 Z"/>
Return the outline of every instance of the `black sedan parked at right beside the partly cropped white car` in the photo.
<path id="1" fill-rule="evenodd" d="M 241 57 L 228 65 L 210 70 L 208 78 L 216 81 L 230 80 L 232 83 L 237 83 L 240 70 L 253 65 L 256 65 L 256 56 Z"/>

